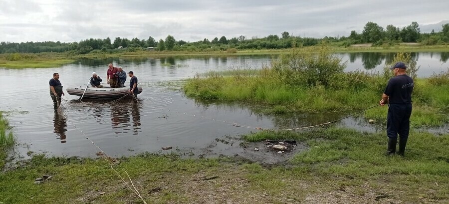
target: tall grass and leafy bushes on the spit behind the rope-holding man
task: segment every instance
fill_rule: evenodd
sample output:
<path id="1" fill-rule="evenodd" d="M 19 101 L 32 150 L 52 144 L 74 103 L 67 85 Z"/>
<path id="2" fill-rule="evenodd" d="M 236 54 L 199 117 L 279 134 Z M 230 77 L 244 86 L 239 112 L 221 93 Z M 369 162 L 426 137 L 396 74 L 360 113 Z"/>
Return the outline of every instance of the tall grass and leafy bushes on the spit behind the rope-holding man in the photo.
<path id="1" fill-rule="evenodd" d="M 236 67 L 223 73 L 197 75 L 184 86 L 186 95 L 206 100 L 240 101 L 264 106 L 268 113 L 348 112 L 363 110 L 379 103 L 392 72 L 388 67 L 398 61 L 408 65 L 416 80 L 413 94 L 413 126 L 438 126 L 449 122 L 448 72 L 417 78 L 409 53 L 398 53 L 385 65 L 384 72 L 343 72 L 345 63 L 327 46 L 317 49 L 291 49 L 261 70 Z M 387 108 L 365 112 L 365 117 L 384 122 Z"/>

